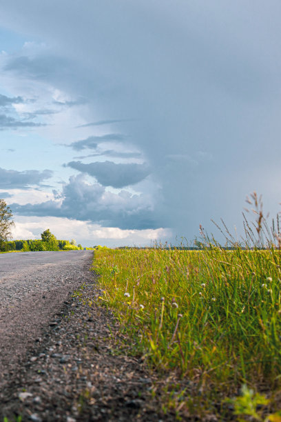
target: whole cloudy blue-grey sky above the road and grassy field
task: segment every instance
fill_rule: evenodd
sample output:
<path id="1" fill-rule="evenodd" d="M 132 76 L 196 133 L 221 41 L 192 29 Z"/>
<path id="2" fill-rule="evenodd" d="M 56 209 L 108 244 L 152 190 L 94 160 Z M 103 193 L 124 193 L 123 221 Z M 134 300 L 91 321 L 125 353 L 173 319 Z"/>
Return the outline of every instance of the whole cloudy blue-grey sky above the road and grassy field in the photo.
<path id="1" fill-rule="evenodd" d="M 193 241 L 280 212 L 278 0 L 0 4 L 0 198 L 14 239 Z"/>

